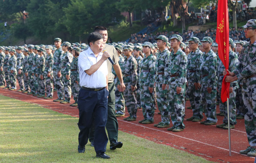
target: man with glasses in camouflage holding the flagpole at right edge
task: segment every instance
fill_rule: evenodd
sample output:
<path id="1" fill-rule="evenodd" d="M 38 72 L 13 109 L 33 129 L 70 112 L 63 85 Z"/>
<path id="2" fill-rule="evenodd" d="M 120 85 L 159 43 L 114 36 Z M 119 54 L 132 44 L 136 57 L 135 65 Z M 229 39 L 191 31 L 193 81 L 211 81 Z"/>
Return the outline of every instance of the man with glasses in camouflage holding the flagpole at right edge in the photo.
<path id="1" fill-rule="evenodd" d="M 250 146 L 245 150 L 240 150 L 241 154 L 256 156 L 256 19 L 248 20 L 243 26 L 245 37 L 250 41 L 243 45 L 239 55 L 239 65 L 233 72 L 229 70 L 226 82 L 242 80 L 242 96 L 245 107 L 244 123 L 247 138 Z M 226 71 L 223 73 L 226 74 Z"/>

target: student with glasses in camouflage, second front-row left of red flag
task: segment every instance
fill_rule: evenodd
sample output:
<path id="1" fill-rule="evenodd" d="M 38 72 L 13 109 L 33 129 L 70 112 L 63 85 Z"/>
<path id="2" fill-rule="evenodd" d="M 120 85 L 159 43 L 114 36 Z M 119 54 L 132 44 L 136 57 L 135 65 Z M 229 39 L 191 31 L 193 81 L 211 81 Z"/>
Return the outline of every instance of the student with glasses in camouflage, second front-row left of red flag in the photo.
<path id="1" fill-rule="evenodd" d="M 190 104 L 193 110 L 193 116 L 187 118 L 187 121 L 199 122 L 203 119 L 203 109 L 201 107 L 201 93 L 199 84 L 199 75 L 196 70 L 199 68 L 199 61 L 203 52 L 198 48 L 200 40 L 197 37 L 191 37 L 188 40 L 189 50 L 191 52 L 187 57 L 187 91 L 190 98 Z"/>

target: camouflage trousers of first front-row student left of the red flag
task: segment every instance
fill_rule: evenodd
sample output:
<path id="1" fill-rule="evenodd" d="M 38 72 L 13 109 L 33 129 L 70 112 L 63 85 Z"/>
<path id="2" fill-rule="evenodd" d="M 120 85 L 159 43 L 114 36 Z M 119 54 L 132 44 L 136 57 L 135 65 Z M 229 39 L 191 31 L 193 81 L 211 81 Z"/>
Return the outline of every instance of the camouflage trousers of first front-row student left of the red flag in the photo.
<path id="1" fill-rule="evenodd" d="M 201 85 L 201 95 L 202 95 L 202 107 L 204 108 L 204 114 L 207 120 L 217 122 L 216 115 L 216 94 L 217 94 L 217 84 L 212 85 L 212 92 L 208 93 L 207 85 Z"/>

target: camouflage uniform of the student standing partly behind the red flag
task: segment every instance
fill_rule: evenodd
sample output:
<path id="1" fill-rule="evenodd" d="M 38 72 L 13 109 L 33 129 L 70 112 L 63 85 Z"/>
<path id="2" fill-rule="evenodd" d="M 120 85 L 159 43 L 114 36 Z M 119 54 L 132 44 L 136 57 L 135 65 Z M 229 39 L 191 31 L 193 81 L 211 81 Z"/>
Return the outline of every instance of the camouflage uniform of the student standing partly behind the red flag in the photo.
<path id="1" fill-rule="evenodd" d="M 219 91 L 219 95 L 221 95 L 221 87 L 222 87 L 222 80 L 224 78 L 223 71 L 225 70 L 225 66 L 218 57 L 218 68 L 217 68 L 217 76 L 218 76 L 218 84 L 217 89 Z M 238 57 L 237 54 L 233 51 L 229 51 L 229 70 L 232 72 L 235 70 L 235 68 L 238 65 Z M 230 124 L 235 125 L 237 124 L 236 121 L 236 105 L 235 105 L 235 96 L 237 93 L 238 83 L 237 81 L 234 81 L 230 83 L 230 87 L 233 87 L 233 92 L 229 93 L 229 118 L 230 118 Z M 224 109 L 225 117 L 223 119 L 223 122 L 227 124 L 227 102 L 222 103 L 221 102 L 221 96 L 218 96 L 220 101 L 220 108 Z"/>

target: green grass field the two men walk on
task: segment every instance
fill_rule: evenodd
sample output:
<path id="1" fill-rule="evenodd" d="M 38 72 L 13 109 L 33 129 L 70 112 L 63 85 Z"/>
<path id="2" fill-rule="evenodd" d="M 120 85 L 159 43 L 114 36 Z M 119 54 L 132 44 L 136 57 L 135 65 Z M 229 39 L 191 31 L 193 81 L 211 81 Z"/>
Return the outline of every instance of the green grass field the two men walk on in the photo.
<path id="1" fill-rule="evenodd" d="M 0 163 L 209 163 L 166 145 L 119 132 L 122 148 L 95 157 L 88 143 L 77 152 L 78 118 L 0 95 Z"/>

